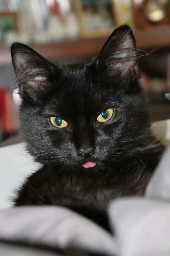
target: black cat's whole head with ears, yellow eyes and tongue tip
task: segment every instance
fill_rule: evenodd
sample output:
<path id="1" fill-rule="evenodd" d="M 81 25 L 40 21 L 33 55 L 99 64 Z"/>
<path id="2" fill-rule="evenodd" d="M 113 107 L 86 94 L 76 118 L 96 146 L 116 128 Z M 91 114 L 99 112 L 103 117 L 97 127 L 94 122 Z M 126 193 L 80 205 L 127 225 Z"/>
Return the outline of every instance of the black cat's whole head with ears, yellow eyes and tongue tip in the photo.
<path id="1" fill-rule="evenodd" d="M 53 65 L 20 43 L 11 54 L 22 98 L 21 132 L 37 161 L 109 168 L 148 128 L 128 26 L 117 28 L 92 63 L 82 66 Z"/>

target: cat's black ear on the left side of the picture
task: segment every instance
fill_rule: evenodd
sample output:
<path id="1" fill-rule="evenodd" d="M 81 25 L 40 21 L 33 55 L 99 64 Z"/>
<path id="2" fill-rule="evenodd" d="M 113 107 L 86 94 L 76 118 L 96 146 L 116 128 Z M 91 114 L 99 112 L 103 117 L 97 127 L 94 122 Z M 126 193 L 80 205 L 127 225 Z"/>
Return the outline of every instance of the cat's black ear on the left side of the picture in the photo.
<path id="1" fill-rule="evenodd" d="M 39 100 L 48 89 L 52 64 L 22 43 L 12 44 L 11 57 L 21 97 Z"/>

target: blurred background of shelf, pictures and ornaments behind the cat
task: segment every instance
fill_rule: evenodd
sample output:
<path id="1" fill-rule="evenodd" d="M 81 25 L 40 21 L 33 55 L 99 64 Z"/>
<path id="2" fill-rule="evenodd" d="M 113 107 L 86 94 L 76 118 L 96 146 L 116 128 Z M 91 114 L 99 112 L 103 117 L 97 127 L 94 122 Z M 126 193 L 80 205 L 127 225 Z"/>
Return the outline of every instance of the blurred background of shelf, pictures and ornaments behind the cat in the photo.
<path id="1" fill-rule="evenodd" d="M 115 27 L 127 23 L 137 48 L 151 121 L 170 118 L 170 0 L 0 0 L 0 146 L 17 143 L 12 42 L 48 60 L 91 60 Z"/>

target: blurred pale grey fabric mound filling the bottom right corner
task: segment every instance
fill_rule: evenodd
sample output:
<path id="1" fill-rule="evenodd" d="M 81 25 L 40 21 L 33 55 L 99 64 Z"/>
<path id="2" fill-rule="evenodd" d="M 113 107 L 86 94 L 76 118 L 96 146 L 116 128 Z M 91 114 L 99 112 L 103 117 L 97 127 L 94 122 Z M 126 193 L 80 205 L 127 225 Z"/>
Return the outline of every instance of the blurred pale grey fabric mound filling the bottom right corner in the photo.
<path id="1" fill-rule="evenodd" d="M 122 198 L 109 209 L 122 256 L 170 255 L 170 204 Z"/>

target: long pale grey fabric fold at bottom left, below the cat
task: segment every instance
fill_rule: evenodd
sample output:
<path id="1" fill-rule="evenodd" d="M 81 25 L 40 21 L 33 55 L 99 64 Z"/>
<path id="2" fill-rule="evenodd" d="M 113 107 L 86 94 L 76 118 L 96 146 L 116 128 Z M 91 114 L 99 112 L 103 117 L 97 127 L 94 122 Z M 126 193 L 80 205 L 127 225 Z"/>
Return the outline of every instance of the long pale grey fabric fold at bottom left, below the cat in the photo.
<path id="1" fill-rule="evenodd" d="M 111 234 L 77 213 L 57 206 L 25 206 L 1 211 L 0 239 L 117 254 Z"/>

